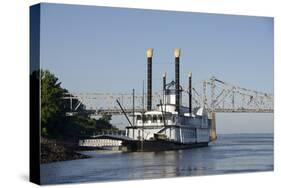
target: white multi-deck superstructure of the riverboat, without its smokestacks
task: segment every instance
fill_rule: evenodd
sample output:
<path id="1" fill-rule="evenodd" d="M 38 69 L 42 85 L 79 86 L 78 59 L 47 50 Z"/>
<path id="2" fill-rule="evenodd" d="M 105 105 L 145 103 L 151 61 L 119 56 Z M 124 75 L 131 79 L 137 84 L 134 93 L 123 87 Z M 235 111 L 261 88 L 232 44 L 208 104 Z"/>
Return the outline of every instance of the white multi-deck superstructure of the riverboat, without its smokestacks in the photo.
<path id="1" fill-rule="evenodd" d="M 173 90 L 165 90 L 164 104 L 158 104 L 155 110 L 134 114 L 133 126 L 126 127 L 129 138 L 155 140 L 160 136 L 163 140 L 182 144 L 210 141 L 211 120 L 207 112 L 203 108 L 197 108 L 189 113 L 187 107 L 180 106 L 181 115 L 178 115 Z"/>

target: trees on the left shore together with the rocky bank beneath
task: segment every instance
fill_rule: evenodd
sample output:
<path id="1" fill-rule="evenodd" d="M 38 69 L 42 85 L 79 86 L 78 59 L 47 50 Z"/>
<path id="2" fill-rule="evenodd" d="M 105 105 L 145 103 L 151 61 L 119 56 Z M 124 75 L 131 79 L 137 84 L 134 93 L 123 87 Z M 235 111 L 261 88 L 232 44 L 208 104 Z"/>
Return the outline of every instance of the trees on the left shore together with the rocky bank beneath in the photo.
<path id="1" fill-rule="evenodd" d="M 41 163 L 85 158 L 87 156 L 75 152 L 80 138 L 96 132 L 118 130 L 110 123 L 111 116 L 99 119 L 85 115 L 66 116 L 70 109 L 64 96 L 69 91 L 62 88 L 59 79 L 50 71 L 34 71 L 30 79 L 41 82 Z"/>

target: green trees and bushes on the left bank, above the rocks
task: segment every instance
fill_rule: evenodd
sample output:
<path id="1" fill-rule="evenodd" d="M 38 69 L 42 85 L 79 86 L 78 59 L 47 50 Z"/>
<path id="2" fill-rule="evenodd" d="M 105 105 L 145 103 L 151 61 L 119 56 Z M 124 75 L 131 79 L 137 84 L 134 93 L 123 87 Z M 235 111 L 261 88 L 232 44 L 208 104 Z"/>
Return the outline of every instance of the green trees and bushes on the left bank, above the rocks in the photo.
<path id="1" fill-rule="evenodd" d="M 111 116 L 90 119 L 87 116 L 66 116 L 69 110 L 63 99 L 67 89 L 61 87 L 59 79 L 48 70 L 41 70 L 41 134 L 47 138 L 79 139 L 94 132 L 117 130 L 110 124 Z"/>

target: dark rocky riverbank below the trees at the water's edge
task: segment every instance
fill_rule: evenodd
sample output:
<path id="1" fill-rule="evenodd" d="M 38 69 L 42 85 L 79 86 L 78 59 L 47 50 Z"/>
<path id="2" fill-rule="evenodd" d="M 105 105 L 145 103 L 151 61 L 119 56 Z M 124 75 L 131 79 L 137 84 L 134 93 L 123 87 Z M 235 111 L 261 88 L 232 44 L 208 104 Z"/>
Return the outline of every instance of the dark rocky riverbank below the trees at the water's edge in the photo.
<path id="1" fill-rule="evenodd" d="M 73 141 L 58 141 L 41 138 L 41 163 L 89 158 L 76 152 L 77 144 Z"/>

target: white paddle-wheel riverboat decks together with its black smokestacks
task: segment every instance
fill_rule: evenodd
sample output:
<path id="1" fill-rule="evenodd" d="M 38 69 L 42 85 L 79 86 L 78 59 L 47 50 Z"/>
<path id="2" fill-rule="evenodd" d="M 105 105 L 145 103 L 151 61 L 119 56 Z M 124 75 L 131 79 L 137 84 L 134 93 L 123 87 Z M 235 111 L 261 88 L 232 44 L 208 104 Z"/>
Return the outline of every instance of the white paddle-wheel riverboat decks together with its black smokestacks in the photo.
<path id="1" fill-rule="evenodd" d="M 126 135 L 132 140 L 165 140 L 179 144 L 208 143 L 216 139 L 215 116 L 208 118 L 202 108 L 192 108 L 192 74 L 189 80 L 189 106 L 182 105 L 180 86 L 181 49 L 174 49 L 175 81 L 166 84 L 163 75 L 163 103 L 152 110 L 152 56 L 153 49 L 147 49 L 147 108 L 143 113 L 133 113 L 133 124 L 126 127 Z M 212 126 L 211 126 L 212 124 Z M 211 135 L 211 136 L 210 136 Z"/>

